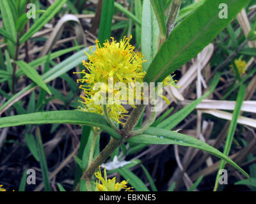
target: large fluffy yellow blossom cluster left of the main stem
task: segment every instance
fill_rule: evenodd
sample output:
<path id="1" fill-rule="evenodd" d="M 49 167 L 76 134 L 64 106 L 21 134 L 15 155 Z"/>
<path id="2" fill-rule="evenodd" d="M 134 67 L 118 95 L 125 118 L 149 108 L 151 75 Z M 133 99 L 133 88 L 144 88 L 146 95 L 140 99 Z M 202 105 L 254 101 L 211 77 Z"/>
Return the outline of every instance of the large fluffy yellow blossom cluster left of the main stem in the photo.
<path id="1" fill-rule="evenodd" d="M 83 101 L 79 101 L 82 104 L 78 107 L 79 110 L 103 115 L 102 103 L 95 103 L 94 100 L 97 96 L 99 101 L 106 101 L 109 117 L 118 123 L 122 123 L 120 120 L 128 116 L 128 111 L 123 105 L 128 104 L 128 101 L 130 102 L 128 100 L 131 97 L 129 94 L 133 92 L 132 100 L 143 100 L 143 92 L 140 95 L 136 94 L 134 84 L 137 82 L 143 83 L 146 72 L 143 71 L 142 63 L 145 60 L 143 60 L 144 56 L 140 52 L 134 52 L 135 47 L 129 43 L 131 38 L 132 36 L 130 38 L 124 37 L 120 42 L 111 38 L 112 41 L 107 40 L 103 43 L 104 46 L 101 46 L 99 41 L 96 40 L 95 52 L 90 47 L 92 54 L 86 53 L 88 62 L 83 61 L 86 69 L 81 72 L 74 72 L 83 75 L 83 78 L 77 79 L 77 83 L 82 83 L 79 88 L 83 89 L 83 94 L 80 95 Z M 109 87 L 109 82 L 113 82 L 114 87 Z M 120 94 L 123 89 L 121 87 L 115 88 L 115 84 L 120 82 L 125 85 L 126 101 L 123 100 L 122 94 Z M 100 86 L 95 87 L 97 83 L 104 84 L 104 90 Z M 163 84 L 164 86 L 172 84 L 171 77 L 167 77 Z M 106 96 L 99 94 L 101 91 L 106 92 Z M 109 103 L 109 100 L 113 102 Z M 129 105 L 133 106 L 132 103 L 129 103 Z"/>

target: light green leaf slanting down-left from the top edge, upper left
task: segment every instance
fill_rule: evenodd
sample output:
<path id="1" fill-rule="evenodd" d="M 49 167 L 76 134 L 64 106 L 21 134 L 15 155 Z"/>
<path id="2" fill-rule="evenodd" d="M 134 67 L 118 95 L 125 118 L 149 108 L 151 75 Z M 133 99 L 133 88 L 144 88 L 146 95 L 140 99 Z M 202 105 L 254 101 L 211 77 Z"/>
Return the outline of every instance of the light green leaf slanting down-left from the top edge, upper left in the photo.
<path id="1" fill-rule="evenodd" d="M 58 11 L 62 8 L 63 4 L 66 3 L 67 0 L 56 0 L 49 8 L 47 8 L 46 12 L 36 20 L 35 24 L 33 24 L 29 30 L 20 38 L 20 44 L 27 41 L 33 34 L 39 31 L 49 20 L 51 20 Z"/>

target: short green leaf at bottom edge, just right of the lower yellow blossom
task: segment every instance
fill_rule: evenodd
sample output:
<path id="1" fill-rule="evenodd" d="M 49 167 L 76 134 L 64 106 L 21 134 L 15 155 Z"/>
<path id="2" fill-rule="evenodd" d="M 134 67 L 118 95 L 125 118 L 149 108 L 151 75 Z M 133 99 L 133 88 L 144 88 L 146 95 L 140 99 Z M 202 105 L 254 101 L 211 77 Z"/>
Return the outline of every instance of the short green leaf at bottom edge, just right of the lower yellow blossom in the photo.
<path id="1" fill-rule="evenodd" d="M 120 175 L 122 175 L 125 180 L 128 180 L 129 184 L 131 184 L 131 186 L 134 187 L 134 189 L 136 189 L 137 191 L 149 191 L 147 186 L 142 182 L 142 180 L 140 180 L 140 178 L 132 173 L 132 171 L 130 171 L 129 169 L 122 167 L 118 168 L 116 171 L 118 171 L 118 173 L 120 173 Z"/>

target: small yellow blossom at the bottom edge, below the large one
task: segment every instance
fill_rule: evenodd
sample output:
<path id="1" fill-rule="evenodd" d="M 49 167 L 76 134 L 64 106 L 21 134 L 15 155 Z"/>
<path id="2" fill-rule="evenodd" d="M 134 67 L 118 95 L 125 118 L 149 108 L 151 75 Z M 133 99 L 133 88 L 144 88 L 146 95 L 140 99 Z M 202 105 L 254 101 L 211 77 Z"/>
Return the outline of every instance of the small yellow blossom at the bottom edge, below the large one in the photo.
<path id="1" fill-rule="evenodd" d="M 116 183 L 116 177 L 113 179 L 107 178 L 106 168 L 104 168 L 104 178 L 102 177 L 100 166 L 99 171 L 95 172 L 95 177 L 99 180 L 96 181 L 95 191 L 131 191 L 132 187 L 127 187 L 128 182 L 123 180 Z M 101 182 L 101 184 L 100 184 Z"/>

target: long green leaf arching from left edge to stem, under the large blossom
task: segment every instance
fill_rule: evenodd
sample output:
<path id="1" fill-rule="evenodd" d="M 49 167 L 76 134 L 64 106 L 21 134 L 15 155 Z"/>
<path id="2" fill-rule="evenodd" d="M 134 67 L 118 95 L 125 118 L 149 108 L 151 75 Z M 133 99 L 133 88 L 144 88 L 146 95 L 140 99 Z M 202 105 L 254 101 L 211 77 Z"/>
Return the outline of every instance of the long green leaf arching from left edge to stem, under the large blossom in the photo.
<path id="1" fill-rule="evenodd" d="M 116 139 L 121 138 L 121 136 L 116 133 L 114 129 L 109 127 L 108 122 L 104 116 L 97 113 L 80 112 L 74 110 L 60 110 L 0 118 L 0 128 L 29 124 L 74 124 L 96 126 L 104 129 L 104 131 Z"/>

